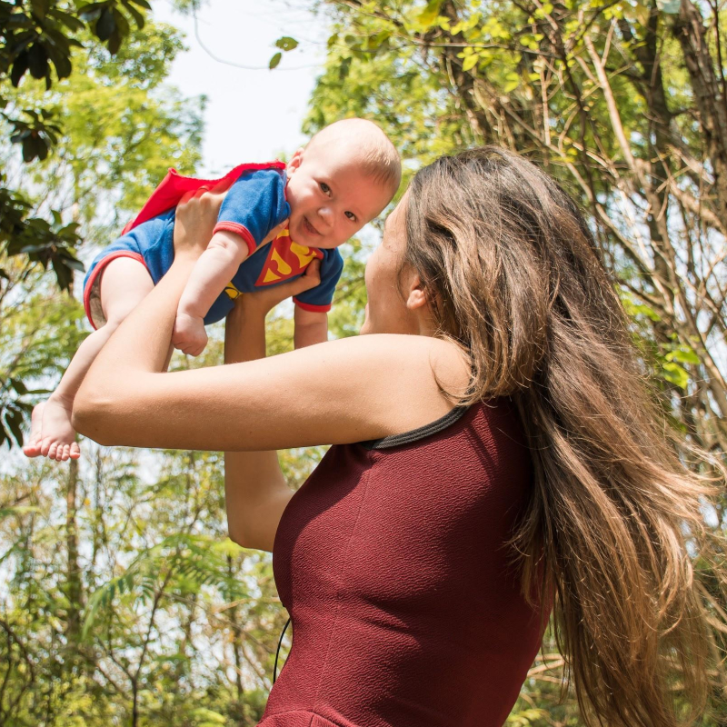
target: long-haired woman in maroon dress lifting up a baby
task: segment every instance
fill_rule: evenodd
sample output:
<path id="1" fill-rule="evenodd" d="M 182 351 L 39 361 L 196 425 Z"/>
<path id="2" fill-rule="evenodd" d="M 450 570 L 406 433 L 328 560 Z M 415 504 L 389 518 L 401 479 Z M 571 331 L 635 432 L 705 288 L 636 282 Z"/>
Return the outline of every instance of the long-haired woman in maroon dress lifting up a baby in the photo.
<path id="1" fill-rule="evenodd" d="M 230 533 L 274 548 L 294 622 L 264 727 L 500 727 L 551 607 L 590 723 L 677 724 L 675 670 L 698 711 L 683 527 L 706 486 L 664 441 L 558 185 L 502 149 L 443 157 L 367 265 L 368 335 L 161 373 L 217 204 L 180 213 L 174 266 L 88 373 L 75 427 L 227 450 Z M 264 355 L 265 295 L 235 311 L 229 360 Z M 270 450 L 320 443 L 338 446 L 293 496 Z"/>

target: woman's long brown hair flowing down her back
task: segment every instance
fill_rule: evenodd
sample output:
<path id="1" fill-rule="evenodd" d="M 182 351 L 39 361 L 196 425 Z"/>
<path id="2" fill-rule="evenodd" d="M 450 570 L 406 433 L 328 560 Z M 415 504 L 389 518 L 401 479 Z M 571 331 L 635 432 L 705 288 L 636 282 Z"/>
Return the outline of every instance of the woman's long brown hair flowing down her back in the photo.
<path id="1" fill-rule="evenodd" d="M 583 215 L 534 164 L 483 147 L 420 170 L 406 224 L 403 264 L 471 356 L 469 401 L 520 412 L 535 476 L 513 545 L 524 593 L 550 594 L 583 719 L 691 723 L 710 643 L 687 542 L 710 486 L 664 423 Z"/>

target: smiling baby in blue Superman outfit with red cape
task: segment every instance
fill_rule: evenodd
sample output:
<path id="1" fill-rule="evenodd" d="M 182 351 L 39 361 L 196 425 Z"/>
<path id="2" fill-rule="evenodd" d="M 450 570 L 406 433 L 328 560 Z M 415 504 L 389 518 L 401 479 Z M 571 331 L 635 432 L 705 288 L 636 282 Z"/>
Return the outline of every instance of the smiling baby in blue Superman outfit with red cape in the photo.
<path id="1" fill-rule="evenodd" d="M 315 259 L 321 261 L 321 282 L 294 298 L 294 345 L 325 341 L 326 312 L 344 264 L 335 248 L 392 200 L 401 181 L 393 144 L 373 122 L 344 119 L 315 134 L 287 166 L 244 164 L 224 180 L 231 186 L 212 240 L 179 301 L 174 347 L 201 354 L 207 342 L 204 324 L 222 320 L 234 298 L 299 277 Z M 28 457 L 65 461 L 80 456 L 71 412 L 85 373 L 116 327 L 171 266 L 175 205 L 182 194 L 218 182 L 172 170 L 122 237 L 95 258 L 84 282 L 84 305 L 96 330 L 79 347 L 55 392 L 35 406 L 23 448 Z M 286 220 L 287 227 L 271 241 L 271 233 Z"/>

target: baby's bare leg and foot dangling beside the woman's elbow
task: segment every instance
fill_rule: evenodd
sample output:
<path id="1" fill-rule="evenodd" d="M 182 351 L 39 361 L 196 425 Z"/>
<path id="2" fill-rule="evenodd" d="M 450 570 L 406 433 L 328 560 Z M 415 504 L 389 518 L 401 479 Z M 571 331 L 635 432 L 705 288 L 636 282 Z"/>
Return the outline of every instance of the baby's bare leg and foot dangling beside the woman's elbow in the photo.
<path id="1" fill-rule="evenodd" d="M 111 334 L 152 288 L 154 282 L 148 271 L 133 258 L 119 257 L 106 266 L 101 285 L 101 307 L 106 324 L 79 346 L 55 392 L 47 402 L 39 403 L 33 410 L 30 439 L 23 448 L 28 457 L 40 454 L 65 462 L 69 457 L 80 456 L 71 425 L 75 394 Z"/>

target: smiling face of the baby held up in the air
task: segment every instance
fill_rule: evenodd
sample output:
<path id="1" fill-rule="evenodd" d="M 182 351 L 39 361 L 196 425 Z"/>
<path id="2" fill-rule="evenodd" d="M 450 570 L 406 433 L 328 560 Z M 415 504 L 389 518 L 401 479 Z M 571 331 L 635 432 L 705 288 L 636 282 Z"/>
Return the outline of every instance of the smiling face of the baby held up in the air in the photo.
<path id="1" fill-rule="evenodd" d="M 317 148 L 298 150 L 288 164 L 290 236 L 308 247 L 338 247 L 392 198 L 352 159 Z"/>

